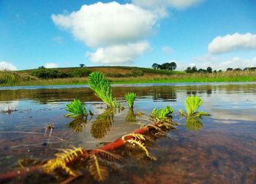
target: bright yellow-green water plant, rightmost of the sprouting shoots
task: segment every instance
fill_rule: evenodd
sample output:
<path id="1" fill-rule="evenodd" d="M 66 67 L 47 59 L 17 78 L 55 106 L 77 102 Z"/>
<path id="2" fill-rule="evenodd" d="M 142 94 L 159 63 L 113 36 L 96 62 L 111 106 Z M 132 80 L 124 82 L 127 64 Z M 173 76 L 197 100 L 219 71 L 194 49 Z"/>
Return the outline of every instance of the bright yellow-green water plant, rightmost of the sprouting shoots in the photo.
<path id="1" fill-rule="evenodd" d="M 187 96 L 185 101 L 185 108 L 187 112 L 179 110 L 183 116 L 194 116 L 200 117 L 201 115 L 209 115 L 208 112 L 197 111 L 197 109 L 203 104 L 203 99 L 200 99 L 199 96 Z"/>

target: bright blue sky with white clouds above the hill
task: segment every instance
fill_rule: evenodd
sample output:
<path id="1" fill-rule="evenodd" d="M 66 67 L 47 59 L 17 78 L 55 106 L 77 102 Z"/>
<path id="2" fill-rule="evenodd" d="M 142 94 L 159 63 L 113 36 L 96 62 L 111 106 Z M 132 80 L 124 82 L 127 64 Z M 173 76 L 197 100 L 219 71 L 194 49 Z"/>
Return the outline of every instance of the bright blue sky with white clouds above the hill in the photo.
<path id="1" fill-rule="evenodd" d="M 0 70 L 256 66 L 255 0 L 0 0 Z"/>

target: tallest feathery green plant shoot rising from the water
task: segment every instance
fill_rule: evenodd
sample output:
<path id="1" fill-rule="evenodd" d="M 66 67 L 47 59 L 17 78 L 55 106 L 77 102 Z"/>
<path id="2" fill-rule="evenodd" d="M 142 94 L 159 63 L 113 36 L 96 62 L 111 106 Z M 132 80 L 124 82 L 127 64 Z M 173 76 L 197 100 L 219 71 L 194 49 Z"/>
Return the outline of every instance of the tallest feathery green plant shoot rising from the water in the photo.
<path id="1" fill-rule="evenodd" d="M 89 74 L 89 85 L 95 92 L 95 95 L 102 99 L 108 107 L 116 107 L 110 81 L 104 74 L 101 72 L 92 72 Z"/>

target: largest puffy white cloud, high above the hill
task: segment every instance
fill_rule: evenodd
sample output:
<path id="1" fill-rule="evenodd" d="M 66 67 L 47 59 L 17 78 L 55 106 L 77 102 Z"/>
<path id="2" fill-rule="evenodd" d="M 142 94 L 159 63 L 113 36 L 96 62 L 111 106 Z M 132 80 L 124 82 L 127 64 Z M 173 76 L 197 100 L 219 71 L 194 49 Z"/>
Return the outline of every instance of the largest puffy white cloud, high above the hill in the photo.
<path id="1" fill-rule="evenodd" d="M 76 39 L 94 48 L 138 41 L 157 22 L 154 12 L 117 2 L 83 5 L 78 12 L 51 17 L 57 26 L 67 28 Z"/>

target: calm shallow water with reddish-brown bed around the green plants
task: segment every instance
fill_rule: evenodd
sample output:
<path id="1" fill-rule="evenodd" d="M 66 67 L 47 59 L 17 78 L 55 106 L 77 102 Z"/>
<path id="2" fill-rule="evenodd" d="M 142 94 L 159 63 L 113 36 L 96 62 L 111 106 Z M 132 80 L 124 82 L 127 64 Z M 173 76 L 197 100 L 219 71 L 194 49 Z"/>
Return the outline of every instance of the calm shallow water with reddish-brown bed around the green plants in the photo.
<path id="1" fill-rule="evenodd" d="M 111 172 L 106 183 L 256 183 L 255 83 L 116 85 L 113 88 L 123 104 L 124 94 L 131 91 L 138 96 L 135 113 L 148 115 L 154 107 L 170 105 L 175 110 L 173 120 L 180 125 L 176 131 L 169 131 L 167 137 L 148 145 L 157 161 L 128 157 Z M 200 110 L 210 112 L 211 116 L 200 120 L 179 117 L 178 109 L 184 109 L 184 100 L 191 94 L 204 100 Z M 70 123 L 72 119 L 64 117 L 65 106 L 72 99 L 84 101 L 95 114 L 75 128 Z M 136 120 L 128 117 L 128 108 L 109 115 L 105 104 L 86 85 L 83 88 L 1 88 L 0 111 L 8 108 L 16 111 L 0 113 L 1 172 L 15 168 L 18 159 L 53 158 L 57 149 L 70 145 L 99 147 L 150 123 L 143 117 L 137 116 Z M 48 123 L 55 126 L 51 138 L 44 135 Z M 94 180 L 82 177 L 75 183 L 94 183 Z"/>

